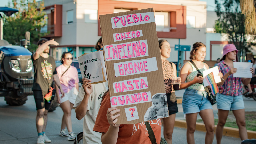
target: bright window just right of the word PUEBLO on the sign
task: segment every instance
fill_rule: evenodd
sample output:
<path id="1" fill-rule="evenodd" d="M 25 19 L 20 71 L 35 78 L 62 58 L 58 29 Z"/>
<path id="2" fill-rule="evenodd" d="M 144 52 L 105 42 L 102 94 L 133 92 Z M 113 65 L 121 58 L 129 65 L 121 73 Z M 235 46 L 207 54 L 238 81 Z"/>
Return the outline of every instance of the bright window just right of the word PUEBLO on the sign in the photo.
<path id="1" fill-rule="evenodd" d="M 156 21 L 156 31 L 170 31 L 169 12 L 154 12 Z"/>

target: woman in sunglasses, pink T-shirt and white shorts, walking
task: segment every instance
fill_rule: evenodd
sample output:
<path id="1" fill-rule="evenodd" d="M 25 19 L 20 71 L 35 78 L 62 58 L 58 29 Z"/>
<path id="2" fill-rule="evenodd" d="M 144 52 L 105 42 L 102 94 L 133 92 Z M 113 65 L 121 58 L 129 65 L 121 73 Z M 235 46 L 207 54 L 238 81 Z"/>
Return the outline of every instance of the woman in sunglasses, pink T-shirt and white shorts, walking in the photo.
<path id="1" fill-rule="evenodd" d="M 68 140 L 74 140 L 75 135 L 72 131 L 71 122 L 71 109 L 76 101 L 76 96 L 78 94 L 78 72 L 76 67 L 71 66 L 73 57 L 70 52 L 63 52 L 61 56 L 61 63 L 59 67 L 56 68 L 58 76 L 60 79 L 61 87 L 65 92 L 65 96 L 62 96 L 59 88 L 55 85 L 57 102 L 60 104 L 63 110 L 63 117 L 61 123 L 60 136 L 68 137 Z M 65 127 L 67 126 L 68 134 L 65 132 Z"/>

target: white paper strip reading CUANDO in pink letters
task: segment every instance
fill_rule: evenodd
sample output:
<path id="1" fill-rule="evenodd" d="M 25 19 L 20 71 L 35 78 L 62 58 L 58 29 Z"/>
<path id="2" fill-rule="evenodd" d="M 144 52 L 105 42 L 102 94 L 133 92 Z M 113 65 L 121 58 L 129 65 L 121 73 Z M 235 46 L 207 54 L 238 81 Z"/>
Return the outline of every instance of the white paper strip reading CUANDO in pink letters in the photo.
<path id="1" fill-rule="evenodd" d="M 151 102 L 150 92 L 140 92 L 110 97 L 111 107 L 126 106 L 144 102 Z"/>

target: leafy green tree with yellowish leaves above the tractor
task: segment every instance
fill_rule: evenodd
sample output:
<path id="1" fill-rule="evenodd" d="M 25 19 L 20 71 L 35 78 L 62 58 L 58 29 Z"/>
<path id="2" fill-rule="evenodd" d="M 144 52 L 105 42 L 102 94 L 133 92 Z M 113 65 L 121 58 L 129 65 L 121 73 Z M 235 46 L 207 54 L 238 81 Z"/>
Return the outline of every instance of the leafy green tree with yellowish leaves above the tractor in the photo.
<path id="1" fill-rule="evenodd" d="M 28 49 L 35 51 L 37 41 L 45 35 L 40 33 L 40 29 L 46 24 L 44 3 L 38 4 L 35 0 L 12 0 L 8 5 L 19 12 L 4 17 L 3 38 L 12 45 L 20 45 L 20 40 L 25 39 L 25 32 L 29 31 L 31 45 Z"/>

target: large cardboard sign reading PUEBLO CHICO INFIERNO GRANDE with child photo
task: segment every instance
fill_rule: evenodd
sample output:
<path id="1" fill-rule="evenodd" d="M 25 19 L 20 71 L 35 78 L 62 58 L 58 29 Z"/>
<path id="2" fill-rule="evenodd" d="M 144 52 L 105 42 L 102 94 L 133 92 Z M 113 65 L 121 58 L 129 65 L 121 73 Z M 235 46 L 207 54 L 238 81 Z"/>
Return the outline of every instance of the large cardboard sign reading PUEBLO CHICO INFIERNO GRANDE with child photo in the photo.
<path id="1" fill-rule="evenodd" d="M 116 124 L 169 117 L 153 8 L 100 15 Z"/>

